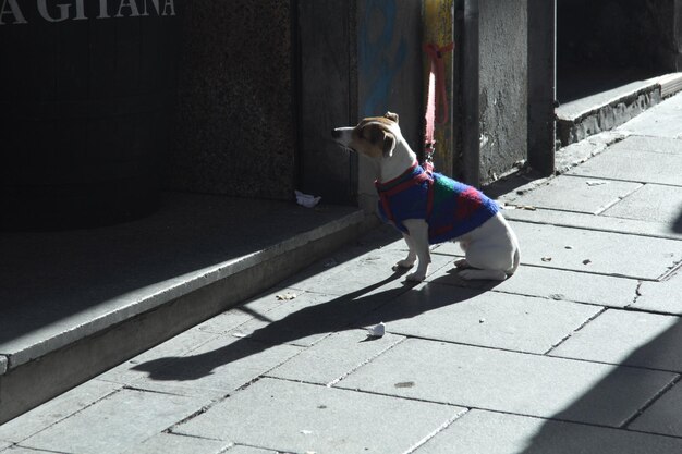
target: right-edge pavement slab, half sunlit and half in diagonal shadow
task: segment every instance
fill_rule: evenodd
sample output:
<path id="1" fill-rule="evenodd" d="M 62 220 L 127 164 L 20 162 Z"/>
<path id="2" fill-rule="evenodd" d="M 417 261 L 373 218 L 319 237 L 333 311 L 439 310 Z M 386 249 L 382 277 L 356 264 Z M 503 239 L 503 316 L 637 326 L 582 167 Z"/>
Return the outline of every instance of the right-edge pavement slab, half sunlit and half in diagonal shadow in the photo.
<path id="1" fill-rule="evenodd" d="M 675 316 L 609 309 L 551 355 L 679 372 L 682 323 Z"/>

